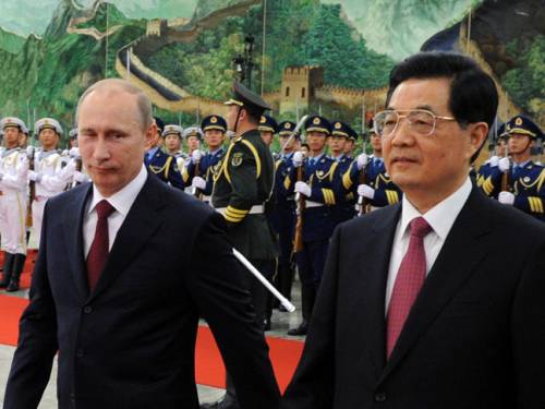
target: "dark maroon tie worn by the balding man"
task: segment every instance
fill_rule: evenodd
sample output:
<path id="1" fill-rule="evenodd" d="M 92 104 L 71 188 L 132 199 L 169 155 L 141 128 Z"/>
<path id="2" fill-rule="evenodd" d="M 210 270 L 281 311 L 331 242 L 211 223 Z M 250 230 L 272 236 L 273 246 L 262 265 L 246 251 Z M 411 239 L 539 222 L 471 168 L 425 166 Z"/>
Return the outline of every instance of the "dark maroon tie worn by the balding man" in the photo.
<path id="1" fill-rule="evenodd" d="M 97 229 L 95 238 L 90 244 L 89 254 L 87 255 L 87 278 L 89 280 L 89 289 L 93 291 L 102 273 L 106 258 L 108 258 L 109 238 L 108 238 L 108 217 L 116 208 L 107 201 L 102 200 L 96 205 L 98 215 Z"/>

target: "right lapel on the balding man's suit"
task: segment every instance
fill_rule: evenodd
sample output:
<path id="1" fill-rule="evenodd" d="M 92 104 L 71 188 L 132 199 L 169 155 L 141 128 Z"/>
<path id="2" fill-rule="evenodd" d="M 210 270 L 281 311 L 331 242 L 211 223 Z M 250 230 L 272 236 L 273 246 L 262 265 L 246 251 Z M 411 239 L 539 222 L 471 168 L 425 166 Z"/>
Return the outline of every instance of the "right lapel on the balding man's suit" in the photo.
<path id="1" fill-rule="evenodd" d="M 146 183 L 116 236 L 104 272 L 88 301 L 99 296 L 116 280 L 159 229 L 162 220 L 157 217 L 157 210 L 166 204 L 162 182 L 148 173 Z"/>

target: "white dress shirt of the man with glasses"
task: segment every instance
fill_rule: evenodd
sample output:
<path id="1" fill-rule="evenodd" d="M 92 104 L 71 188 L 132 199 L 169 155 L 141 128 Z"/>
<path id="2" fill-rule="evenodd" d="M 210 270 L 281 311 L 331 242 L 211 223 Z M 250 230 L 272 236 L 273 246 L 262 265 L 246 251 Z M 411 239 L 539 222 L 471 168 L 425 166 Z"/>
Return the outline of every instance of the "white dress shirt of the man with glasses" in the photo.
<path id="1" fill-rule="evenodd" d="M 399 218 L 398 226 L 396 227 L 396 234 L 393 236 L 393 244 L 391 246 L 388 281 L 386 285 L 386 314 L 388 313 L 388 305 L 390 303 L 393 284 L 396 282 L 401 261 L 409 249 L 411 236 L 409 224 L 414 218 L 422 216 L 432 227 L 432 231 L 424 238 L 427 276 L 443 248 L 443 244 L 445 243 L 445 240 L 447 240 L 447 236 L 455 224 L 456 218 L 470 196 L 471 187 L 471 180 L 468 178 L 460 189 L 427 210 L 424 215 L 422 215 L 411 204 L 411 202 L 409 202 L 407 195 L 403 195 L 401 217 Z"/>

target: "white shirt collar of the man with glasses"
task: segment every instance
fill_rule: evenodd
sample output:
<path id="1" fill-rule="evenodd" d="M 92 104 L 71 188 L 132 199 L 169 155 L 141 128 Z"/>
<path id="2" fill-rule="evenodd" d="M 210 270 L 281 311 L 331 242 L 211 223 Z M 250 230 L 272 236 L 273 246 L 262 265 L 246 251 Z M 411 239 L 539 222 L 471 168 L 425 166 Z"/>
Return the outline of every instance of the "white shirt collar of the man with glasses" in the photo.
<path id="1" fill-rule="evenodd" d="M 423 216 L 424 219 L 432 227 L 434 232 L 445 240 L 455 224 L 456 218 L 460 214 L 463 205 L 468 201 L 472 189 L 470 178 L 450 196 L 443 202 L 436 204 L 424 215 L 422 215 L 416 207 L 409 202 L 407 195 L 403 195 L 402 209 L 401 209 L 401 231 L 404 233 L 409 224 L 416 217 Z"/>

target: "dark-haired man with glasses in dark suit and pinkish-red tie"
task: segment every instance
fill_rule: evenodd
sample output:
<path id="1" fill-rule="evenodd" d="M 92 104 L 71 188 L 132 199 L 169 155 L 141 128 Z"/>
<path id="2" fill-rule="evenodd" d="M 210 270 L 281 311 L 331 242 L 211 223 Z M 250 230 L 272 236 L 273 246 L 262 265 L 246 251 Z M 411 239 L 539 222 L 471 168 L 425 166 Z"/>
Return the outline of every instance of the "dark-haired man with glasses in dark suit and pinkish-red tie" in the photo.
<path id="1" fill-rule="evenodd" d="M 545 228 L 468 177 L 497 100 L 467 57 L 393 69 L 375 127 L 402 203 L 337 228 L 282 409 L 545 407 Z"/>

